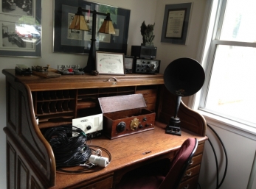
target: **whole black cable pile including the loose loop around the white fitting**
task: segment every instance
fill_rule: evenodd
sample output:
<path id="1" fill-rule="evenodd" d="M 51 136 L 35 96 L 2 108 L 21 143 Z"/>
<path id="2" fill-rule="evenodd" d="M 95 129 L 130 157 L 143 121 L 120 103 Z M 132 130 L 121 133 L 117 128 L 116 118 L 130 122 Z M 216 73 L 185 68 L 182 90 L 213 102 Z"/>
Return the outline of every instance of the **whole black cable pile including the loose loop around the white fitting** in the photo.
<path id="1" fill-rule="evenodd" d="M 89 146 L 86 144 L 87 136 L 82 129 L 72 124 L 56 126 L 44 130 L 44 137 L 52 146 L 55 154 L 56 170 L 69 174 L 81 174 L 100 171 L 102 168 L 89 163 L 91 154 L 101 157 L 102 150 L 108 154 L 108 163 L 111 161 L 111 154 L 107 149 L 100 146 Z M 97 148 L 95 150 L 94 148 Z M 78 171 L 68 171 L 63 168 L 83 165 L 84 168 Z"/>

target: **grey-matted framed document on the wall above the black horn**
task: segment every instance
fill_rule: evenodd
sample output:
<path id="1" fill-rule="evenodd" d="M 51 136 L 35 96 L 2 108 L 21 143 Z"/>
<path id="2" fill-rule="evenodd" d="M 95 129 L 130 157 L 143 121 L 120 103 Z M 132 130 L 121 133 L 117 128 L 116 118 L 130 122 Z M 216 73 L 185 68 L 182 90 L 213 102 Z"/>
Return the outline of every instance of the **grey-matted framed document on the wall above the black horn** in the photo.
<path id="1" fill-rule="evenodd" d="M 185 44 L 192 3 L 166 4 L 161 43 Z"/>

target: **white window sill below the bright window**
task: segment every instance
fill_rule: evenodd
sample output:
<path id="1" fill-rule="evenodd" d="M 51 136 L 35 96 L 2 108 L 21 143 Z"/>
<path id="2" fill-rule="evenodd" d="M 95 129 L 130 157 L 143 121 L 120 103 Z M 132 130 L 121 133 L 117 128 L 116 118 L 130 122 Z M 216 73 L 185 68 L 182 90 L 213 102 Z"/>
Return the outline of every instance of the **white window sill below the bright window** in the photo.
<path id="1" fill-rule="evenodd" d="M 256 140 L 255 127 L 248 126 L 246 124 L 241 124 L 236 121 L 231 121 L 227 118 L 222 118 L 221 116 L 213 115 L 202 110 L 197 110 L 197 112 L 204 116 L 205 120 L 207 121 L 207 124 L 218 126 L 221 129 L 228 130 L 229 132 L 234 132 L 238 135 L 242 135 L 243 137 Z"/>

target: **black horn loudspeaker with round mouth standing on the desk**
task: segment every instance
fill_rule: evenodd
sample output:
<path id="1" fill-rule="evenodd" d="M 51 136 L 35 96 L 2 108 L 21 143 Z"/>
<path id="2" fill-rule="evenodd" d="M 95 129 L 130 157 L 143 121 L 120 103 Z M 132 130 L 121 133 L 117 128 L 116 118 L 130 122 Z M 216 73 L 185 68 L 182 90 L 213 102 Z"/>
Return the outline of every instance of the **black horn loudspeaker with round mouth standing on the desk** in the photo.
<path id="1" fill-rule="evenodd" d="M 173 60 L 164 73 L 165 87 L 170 93 L 177 96 L 174 116 L 170 118 L 165 133 L 181 135 L 178 118 L 179 104 L 182 96 L 191 96 L 198 92 L 204 85 L 204 69 L 201 64 L 191 58 Z"/>

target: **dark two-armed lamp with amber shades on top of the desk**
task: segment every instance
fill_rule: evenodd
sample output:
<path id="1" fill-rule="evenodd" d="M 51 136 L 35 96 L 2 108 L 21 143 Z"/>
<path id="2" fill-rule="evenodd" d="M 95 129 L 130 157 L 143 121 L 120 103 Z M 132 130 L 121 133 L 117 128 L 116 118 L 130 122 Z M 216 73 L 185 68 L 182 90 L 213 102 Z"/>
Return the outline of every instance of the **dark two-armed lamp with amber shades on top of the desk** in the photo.
<path id="1" fill-rule="evenodd" d="M 77 29 L 89 31 L 89 26 L 86 24 L 86 20 L 84 18 L 83 12 L 89 13 L 89 10 L 82 9 L 82 7 L 78 7 L 77 13 L 75 14 L 75 18 L 70 24 L 69 29 Z M 83 68 L 83 71 L 86 73 L 91 73 L 91 71 L 96 70 L 96 50 L 95 50 L 95 41 L 96 41 L 96 17 L 97 15 L 105 15 L 103 24 L 100 26 L 98 32 L 105 34 L 115 34 L 114 26 L 112 24 L 110 14 L 109 13 L 99 13 L 96 10 L 92 11 L 92 28 L 91 28 L 91 48 L 89 51 L 89 57 L 87 60 L 87 65 Z"/>

